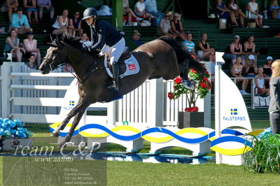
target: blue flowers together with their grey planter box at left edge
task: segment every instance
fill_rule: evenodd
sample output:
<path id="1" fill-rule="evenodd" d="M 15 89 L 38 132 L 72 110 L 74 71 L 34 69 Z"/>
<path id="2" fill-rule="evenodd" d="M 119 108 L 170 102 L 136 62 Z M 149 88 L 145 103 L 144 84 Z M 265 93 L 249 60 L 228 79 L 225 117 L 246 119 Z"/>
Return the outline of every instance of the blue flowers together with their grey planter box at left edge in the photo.
<path id="1" fill-rule="evenodd" d="M 0 136 L 2 139 L 1 150 L 14 150 L 17 145 L 33 145 L 33 133 L 22 126 L 20 120 L 8 120 L 0 118 Z"/>

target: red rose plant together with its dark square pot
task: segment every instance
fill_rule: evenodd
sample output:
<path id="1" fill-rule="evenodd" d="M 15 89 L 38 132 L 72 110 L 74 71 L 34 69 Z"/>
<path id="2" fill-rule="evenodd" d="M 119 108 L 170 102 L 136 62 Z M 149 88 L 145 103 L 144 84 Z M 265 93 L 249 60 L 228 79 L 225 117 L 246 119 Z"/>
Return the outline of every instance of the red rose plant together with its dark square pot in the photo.
<path id="1" fill-rule="evenodd" d="M 186 127 L 204 127 L 204 113 L 198 112 L 196 106 L 197 99 L 203 99 L 211 89 L 211 83 L 209 81 L 209 72 L 198 73 L 194 69 L 190 69 L 188 76 L 191 81 L 197 83 L 194 90 L 187 89 L 181 83 L 181 78 L 174 80 L 174 91 L 168 93 L 169 99 L 178 99 L 182 94 L 185 94 L 188 100 L 188 107 L 185 108 L 185 112 L 179 112 L 179 129 Z"/>

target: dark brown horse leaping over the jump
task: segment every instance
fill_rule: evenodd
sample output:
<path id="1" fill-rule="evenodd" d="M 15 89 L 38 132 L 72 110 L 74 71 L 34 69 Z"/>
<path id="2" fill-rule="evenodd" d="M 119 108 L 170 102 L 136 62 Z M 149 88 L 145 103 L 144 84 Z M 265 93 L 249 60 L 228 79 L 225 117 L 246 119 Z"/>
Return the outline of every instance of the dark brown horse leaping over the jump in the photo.
<path id="1" fill-rule="evenodd" d="M 116 92 L 108 88 L 113 80 L 104 68 L 106 55 L 99 55 L 97 50 L 85 52 L 79 39 L 73 38 L 69 34 L 62 35 L 62 38 L 55 38 L 48 45 L 50 48 L 39 66 L 41 73 L 47 74 L 59 66 L 70 64 L 78 78 L 78 104 L 51 134 L 51 136 L 59 136 L 59 131 L 63 130 L 69 120 L 75 116 L 68 134 L 58 145 L 60 148 L 71 140 L 75 127 L 90 104 L 119 99 L 120 96 L 135 90 L 147 79 L 173 80 L 180 74 L 182 76 L 183 73 L 188 73 L 188 69 L 195 69 L 200 73 L 206 71 L 204 65 L 195 61 L 190 52 L 183 50 L 177 41 L 162 36 L 140 45 L 131 52 L 131 55 L 139 62 L 140 71 L 122 78 L 120 88 Z M 123 57 L 120 57 L 119 62 L 122 60 Z"/>

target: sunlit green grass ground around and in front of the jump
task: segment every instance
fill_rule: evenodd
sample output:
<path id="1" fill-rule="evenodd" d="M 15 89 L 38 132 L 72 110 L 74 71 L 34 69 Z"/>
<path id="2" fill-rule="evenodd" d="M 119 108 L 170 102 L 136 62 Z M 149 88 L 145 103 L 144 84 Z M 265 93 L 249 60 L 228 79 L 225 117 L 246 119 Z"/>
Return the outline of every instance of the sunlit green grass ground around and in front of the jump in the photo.
<path id="1" fill-rule="evenodd" d="M 251 123 L 253 130 L 269 127 L 267 120 L 252 121 Z M 48 125 L 27 124 L 27 128 L 34 132 L 36 145 L 47 145 L 53 142 L 54 138 L 49 137 Z M 150 144 L 145 142 L 144 149 L 140 152 L 148 152 L 149 148 Z M 125 148 L 111 144 L 102 149 L 102 151 L 104 150 L 124 151 Z M 191 152 L 183 148 L 172 148 L 163 153 L 189 155 Z M 0 157 L 0 183 L 3 183 L 2 163 L 3 158 Z M 280 175 L 248 173 L 244 171 L 243 166 L 213 163 L 191 165 L 107 161 L 107 183 L 108 185 L 279 185 Z"/>

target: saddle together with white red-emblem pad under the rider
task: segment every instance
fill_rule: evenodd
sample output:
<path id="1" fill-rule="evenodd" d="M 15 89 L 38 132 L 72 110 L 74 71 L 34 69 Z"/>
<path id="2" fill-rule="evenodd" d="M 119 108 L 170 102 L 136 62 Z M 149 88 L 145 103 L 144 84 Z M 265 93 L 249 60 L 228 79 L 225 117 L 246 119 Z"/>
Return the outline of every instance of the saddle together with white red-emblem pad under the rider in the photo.
<path id="1" fill-rule="evenodd" d="M 112 77 L 112 67 L 110 64 L 109 53 L 105 54 L 104 66 L 109 76 Z M 130 53 L 128 48 L 125 48 L 123 54 L 120 56 L 120 59 L 118 59 L 118 66 L 120 69 L 120 78 L 138 73 L 140 69 L 137 59 Z"/>

